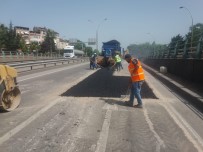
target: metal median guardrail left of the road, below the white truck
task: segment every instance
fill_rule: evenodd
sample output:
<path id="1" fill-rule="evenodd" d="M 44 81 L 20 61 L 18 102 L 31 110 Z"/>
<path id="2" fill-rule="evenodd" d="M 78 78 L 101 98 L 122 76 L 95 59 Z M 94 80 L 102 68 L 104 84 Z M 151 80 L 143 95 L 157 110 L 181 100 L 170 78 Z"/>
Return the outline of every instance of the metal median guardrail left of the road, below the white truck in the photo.
<path id="1" fill-rule="evenodd" d="M 8 63 L 7 65 L 14 67 L 14 68 L 18 69 L 20 72 L 22 72 L 21 69 L 23 69 L 23 68 L 24 69 L 27 68 L 23 71 L 30 71 L 30 70 L 33 70 L 34 67 L 37 67 L 37 66 L 43 66 L 43 68 L 46 68 L 48 65 L 56 66 L 59 63 L 61 63 L 61 65 L 64 65 L 64 64 L 71 64 L 71 63 L 76 63 L 76 62 L 86 62 L 86 61 L 89 61 L 89 58 L 58 59 L 58 60 L 34 61 L 34 62 L 29 62 L 29 63 L 15 63 L 15 64 Z"/>

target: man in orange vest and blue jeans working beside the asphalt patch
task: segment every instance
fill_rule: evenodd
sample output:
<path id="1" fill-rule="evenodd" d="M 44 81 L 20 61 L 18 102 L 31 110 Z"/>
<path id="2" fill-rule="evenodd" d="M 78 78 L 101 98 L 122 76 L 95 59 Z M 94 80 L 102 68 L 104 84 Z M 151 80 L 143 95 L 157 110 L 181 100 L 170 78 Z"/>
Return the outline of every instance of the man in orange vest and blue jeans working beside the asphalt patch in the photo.
<path id="1" fill-rule="evenodd" d="M 140 95 L 141 86 L 144 82 L 145 76 L 142 69 L 141 63 L 138 59 L 132 58 L 130 54 L 125 55 L 125 60 L 129 63 L 128 70 L 130 72 L 131 78 L 129 87 L 131 87 L 130 100 L 126 102 L 127 105 L 133 106 L 135 108 L 142 108 L 142 98 Z M 134 105 L 134 97 L 137 98 L 137 105 Z"/>

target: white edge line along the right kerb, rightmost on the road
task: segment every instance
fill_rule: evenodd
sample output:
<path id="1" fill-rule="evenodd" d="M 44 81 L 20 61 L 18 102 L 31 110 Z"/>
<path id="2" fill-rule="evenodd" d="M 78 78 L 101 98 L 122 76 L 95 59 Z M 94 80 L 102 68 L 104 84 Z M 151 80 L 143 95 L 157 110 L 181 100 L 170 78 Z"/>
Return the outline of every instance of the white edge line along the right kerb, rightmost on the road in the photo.
<path id="1" fill-rule="evenodd" d="M 155 88 L 155 86 L 151 82 L 148 82 L 147 79 L 146 81 L 150 88 Z M 158 90 L 153 89 L 153 92 L 156 94 L 158 98 L 162 99 L 162 101 L 164 102 L 157 103 L 162 105 L 166 109 L 166 111 L 173 118 L 174 122 L 183 130 L 188 140 L 193 143 L 195 148 L 199 152 L 203 152 L 203 139 L 192 128 L 192 126 L 190 126 L 188 122 L 168 102 L 166 102 L 167 99 Z"/>

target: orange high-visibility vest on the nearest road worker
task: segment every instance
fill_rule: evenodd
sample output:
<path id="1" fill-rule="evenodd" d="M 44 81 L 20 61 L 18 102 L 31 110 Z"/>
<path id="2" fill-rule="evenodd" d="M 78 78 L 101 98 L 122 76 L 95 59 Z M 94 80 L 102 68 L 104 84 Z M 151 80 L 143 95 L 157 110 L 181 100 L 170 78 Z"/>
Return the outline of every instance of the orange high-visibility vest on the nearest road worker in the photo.
<path id="1" fill-rule="evenodd" d="M 142 69 L 141 63 L 139 60 L 137 60 L 137 61 L 138 61 L 137 67 L 136 67 L 136 65 L 133 64 L 132 59 L 130 60 L 130 63 L 128 65 L 128 70 L 131 74 L 132 82 L 143 81 L 145 79 L 144 71 Z M 137 69 L 135 70 L 135 68 L 137 68 Z"/>

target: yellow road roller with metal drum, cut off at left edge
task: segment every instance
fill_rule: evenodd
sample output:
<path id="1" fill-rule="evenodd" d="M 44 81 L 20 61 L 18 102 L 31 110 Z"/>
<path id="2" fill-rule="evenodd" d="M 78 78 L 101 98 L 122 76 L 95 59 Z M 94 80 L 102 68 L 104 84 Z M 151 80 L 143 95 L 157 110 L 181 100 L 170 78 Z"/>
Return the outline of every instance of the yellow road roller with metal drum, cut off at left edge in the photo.
<path id="1" fill-rule="evenodd" d="M 17 86 L 17 70 L 0 64 L 0 111 L 12 111 L 21 101 L 21 92 Z"/>

